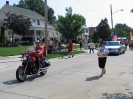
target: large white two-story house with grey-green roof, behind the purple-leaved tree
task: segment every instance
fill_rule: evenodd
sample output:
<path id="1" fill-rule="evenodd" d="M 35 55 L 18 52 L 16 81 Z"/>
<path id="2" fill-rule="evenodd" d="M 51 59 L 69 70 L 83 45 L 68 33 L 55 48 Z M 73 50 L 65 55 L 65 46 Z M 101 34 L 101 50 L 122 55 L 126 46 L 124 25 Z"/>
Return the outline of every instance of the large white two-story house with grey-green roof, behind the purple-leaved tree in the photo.
<path id="1" fill-rule="evenodd" d="M 34 37 L 37 40 L 39 36 L 41 39 L 45 36 L 45 24 L 44 17 L 35 11 L 23 9 L 19 7 L 13 7 L 9 5 L 9 2 L 6 1 L 6 4 L 0 9 L 0 25 L 2 26 L 3 19 L 6 19 L 5 13 L 9 12 L 12 14 L 23 15 L 25 18 L 30 18 L 32 26 L 30 27 L 29 35 Z M 47 25 L 48 37 L 53 38 L 57 32 L 54 30 L 53 26 Z M 5 31 L 6 34 L 11 37 L 10 30 Z M 20 35 L 14 35 L 14 38 L 21 38 Z"/>

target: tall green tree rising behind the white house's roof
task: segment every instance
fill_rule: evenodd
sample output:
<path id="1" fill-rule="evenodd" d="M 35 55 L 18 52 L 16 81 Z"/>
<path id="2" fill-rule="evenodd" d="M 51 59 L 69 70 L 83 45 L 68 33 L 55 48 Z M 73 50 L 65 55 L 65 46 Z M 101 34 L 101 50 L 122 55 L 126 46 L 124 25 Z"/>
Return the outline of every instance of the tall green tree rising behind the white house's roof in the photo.
<path id="1" fill-rule="evenodd" d="M 13 6 L 31 9 L 44 16 L 44 1 L 43 0 L 20 0 L 19 4 L 13 4 Z M 48 6 L 48 21 L 55 21 L 54 10 Z"/>

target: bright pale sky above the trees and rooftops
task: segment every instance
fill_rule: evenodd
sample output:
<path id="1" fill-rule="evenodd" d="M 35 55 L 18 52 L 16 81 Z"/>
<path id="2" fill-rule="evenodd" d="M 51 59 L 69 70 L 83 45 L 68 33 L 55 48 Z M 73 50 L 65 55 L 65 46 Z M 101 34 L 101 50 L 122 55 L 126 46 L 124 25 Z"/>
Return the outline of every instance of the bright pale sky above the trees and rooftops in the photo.
<path id="1" fill-rule="evenodd" d="M 18 4 L 20 0 L 8 0 L 10 5 Z M 2 0 L 0 8 L 6 3 Z M 53 8 L 54 15 L 58 19 L 58 15 L 65 16 L 65 9 L 72 7 L 73 14 L 80 14 L 86 19 L 87 27 L 96 27 L 101 19 L 107 18 L 111 27 L 111 11 L 112 5 L 113 26 L 117 23 L 127 24 L 133 28 L 133 0 L 47 0 L 47 4 Z M 123 9 L 123 11 L 118 11 Z M 116 13 L 115 13 L 116 12 Z"/>

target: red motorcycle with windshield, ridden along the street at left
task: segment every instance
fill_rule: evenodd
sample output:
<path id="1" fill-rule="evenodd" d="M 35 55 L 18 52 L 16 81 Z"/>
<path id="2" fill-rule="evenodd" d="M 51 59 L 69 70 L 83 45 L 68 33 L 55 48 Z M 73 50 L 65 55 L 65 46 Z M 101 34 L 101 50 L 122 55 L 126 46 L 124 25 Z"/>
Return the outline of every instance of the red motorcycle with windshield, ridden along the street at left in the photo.
<path id="1" fill-rule="evenodd" d="M 16 78 L 19 82 L 25 81 L 27 75 L 46 74 L 50 62 L 45 58 L 39 58 L 38 53 L 39 51 L 35 51 L 34 48 L 28 48 L 28 50 L 21 53 L 22 65 L 16 70 Z"/>

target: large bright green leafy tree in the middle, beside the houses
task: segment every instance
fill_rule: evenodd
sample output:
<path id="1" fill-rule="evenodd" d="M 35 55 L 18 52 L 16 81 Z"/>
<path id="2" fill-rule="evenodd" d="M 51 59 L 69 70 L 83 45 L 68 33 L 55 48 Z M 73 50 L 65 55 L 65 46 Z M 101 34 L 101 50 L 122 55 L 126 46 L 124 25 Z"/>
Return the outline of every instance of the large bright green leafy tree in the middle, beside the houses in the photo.
<path id="1" fill-rule="evenodd" d="M 82 28 L 85 25 L 86 20 L 79 14 L 72 14 L 72 8 L 66 8 L 66 15 L 58 16 L 60 24 L 55 26 L 55 29 L 62 34 L 65 39 L 76 39 L 77 36 L 84 33 Z"/>

